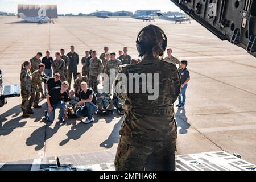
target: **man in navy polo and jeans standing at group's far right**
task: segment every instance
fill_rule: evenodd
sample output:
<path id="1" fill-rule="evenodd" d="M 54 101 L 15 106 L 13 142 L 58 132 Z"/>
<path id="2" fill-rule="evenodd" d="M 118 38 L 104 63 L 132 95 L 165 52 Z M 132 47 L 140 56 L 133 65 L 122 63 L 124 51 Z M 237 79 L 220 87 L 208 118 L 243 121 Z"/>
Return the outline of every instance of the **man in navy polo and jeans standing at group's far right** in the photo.
<path id="1" fill-rule="evenodd" d="M 190 80 L 189 71 L 187 69 L 188 61 L 181 61 L 181 69 L 179 70 L 181 76 L 181 93 L 179 96 L 179 104 L 176 107 L 180 109 L 185 107 L 185 100 L 186 100 L 186 90 L 188 86 L 188 82 Z M 182 100 L 181 100 L 182 95 Z"/>

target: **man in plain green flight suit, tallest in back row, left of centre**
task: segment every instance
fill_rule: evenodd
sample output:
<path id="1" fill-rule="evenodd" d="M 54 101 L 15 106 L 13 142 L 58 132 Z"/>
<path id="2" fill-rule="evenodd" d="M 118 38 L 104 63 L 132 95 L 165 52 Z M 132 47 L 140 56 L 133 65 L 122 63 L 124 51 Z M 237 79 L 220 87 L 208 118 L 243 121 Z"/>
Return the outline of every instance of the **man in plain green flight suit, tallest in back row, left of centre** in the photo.
<path id="1" fill-rule="evenodd" d="M 79 64 L 79 55 L 74 51 L 75 47 L 70 47 L 71 51 L 67 54 L 69 57 L 69 66 L 68 66 L 68 83 L 69 88 L 71 86 L 72 74 L 74 78 L 74 82 L 76 80 L 77 74 L 77 65 Z"/>

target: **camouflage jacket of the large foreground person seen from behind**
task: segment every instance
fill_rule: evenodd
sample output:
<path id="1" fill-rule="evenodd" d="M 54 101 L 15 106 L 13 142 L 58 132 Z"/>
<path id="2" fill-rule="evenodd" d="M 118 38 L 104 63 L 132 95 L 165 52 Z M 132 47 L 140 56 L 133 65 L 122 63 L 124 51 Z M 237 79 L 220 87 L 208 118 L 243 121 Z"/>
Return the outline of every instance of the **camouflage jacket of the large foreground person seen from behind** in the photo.
<path id="1" fill-rule="evenodd" d="M 139 81 L 134 86 L 133 92 L 116 89 L 117 97 L 125 100 L 125 112 L 120 134 L 125 136 L 139 137 L 150 140 L 166 140 L 177 137 L 177 126 L 174 119 L 174 102 L 180 94 L 181 79 L 174 64 L 158 59 L 143 59 L 138 64 L 129 64 L 123 67 L 121 72 L 126 75 L 127 84 L 130 80 L 129 73 L 144 73 L 147 80 Z M 153 94 L 142 93 L 142 88 L 148 86 L 148 73 L 152 74 L 152 84 L 158 83 L 154 89 L 158 91 L 158 97 L 150 100 L 148 96 Z M 158 75 L 158 77 L 157 77 Z M 121 74 L 115 78 L 115 86 L 119 88 Z M 123 79 L 122 79 L 123 80 Z M 132 82 L 131 82 L 132 83 Z M 125 85 L 126 86 L 126 85 Z M 139 89 L 139 93 L 135 93 Z M 148 89 L 147 89 L 148 90 Z M 154 93 L 155 94 L 155 93 Z"/>

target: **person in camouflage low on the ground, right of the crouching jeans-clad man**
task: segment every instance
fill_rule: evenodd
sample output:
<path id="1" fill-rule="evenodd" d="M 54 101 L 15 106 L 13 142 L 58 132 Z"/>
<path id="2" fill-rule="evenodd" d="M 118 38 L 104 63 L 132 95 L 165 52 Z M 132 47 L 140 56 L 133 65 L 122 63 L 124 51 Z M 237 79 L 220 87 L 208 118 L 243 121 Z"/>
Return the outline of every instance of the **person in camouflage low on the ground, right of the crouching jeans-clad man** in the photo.
<path id="1" fill-rule="evenodd" d="M 113 109 L 114 104 L 111 102 L 109 94 L 105 93 L 104 90 L 98 89 L 96 97 L 98 109 L 100 109 L 101 111 Z"/>

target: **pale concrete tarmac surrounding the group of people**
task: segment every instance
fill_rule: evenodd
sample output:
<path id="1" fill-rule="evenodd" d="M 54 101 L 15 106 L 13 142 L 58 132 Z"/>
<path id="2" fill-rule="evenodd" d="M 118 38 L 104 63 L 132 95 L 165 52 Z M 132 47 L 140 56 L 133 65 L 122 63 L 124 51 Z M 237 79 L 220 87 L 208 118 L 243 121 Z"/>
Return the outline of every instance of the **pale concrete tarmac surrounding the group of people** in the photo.
<path id="1" fill-rule="evenodd" d="M 131 18 L 60 17 L 55 24 L 20 23 L 14 17 L 0 17 L 0 69 L 4 84 L 20 83 L 20 65 L 47 49 L 55 52 L 71 45 L 81 58 L 85 50 L 98 56 L 127 46 L 138 57 L 135 40 L 148 24 L 166 32 L 168 47 L 179 60 L 188 61 L 191 81 L 185 109 L 175 109 L 178 126 L 177 154 L 226 151 L 256 163 L 256 59 L 245 50 L 222 42 L 200 24 L 174 24 L 166 20 L 142 22 Z M 167 55 L 167 53 L 166 53 Z M 73 82 L 73 81 L 72 81 Z M 97 115 L 89 125 L 81 119 L 67 123 L 43 122 L 43 110 L 34 109 L 31 118 L 21 117 L 21 97 L 9 98 L 0 108 L 0 162 L 57 155 L 116 150 L 122 117 Z M 40 101 L 44 105 L 46 100 Z"/>

